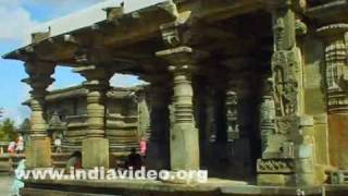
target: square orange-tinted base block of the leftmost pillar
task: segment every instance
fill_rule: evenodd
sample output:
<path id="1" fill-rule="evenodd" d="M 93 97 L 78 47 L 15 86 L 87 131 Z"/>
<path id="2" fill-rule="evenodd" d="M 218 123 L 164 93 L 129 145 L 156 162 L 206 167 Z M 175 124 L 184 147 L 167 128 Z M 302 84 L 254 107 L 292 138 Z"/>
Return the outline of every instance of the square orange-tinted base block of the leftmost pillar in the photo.
<path id="1" fill-rule="evenodd" d="M 48 137 L 30 138 L 25 154 L 27 169 L 52 167 L 51 140 Z"/>

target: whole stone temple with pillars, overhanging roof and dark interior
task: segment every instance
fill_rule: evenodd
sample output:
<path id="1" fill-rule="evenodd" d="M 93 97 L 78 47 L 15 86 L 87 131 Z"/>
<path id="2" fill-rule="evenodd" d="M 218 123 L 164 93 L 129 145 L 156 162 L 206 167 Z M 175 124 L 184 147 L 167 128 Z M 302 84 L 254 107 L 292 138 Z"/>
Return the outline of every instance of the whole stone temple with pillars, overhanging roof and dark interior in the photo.
<path id="1" fill-rule="evenodd" d="M 347 0 L 146 2 L 50 22 L 4 56 L 32 87 L 27 168 L 52 167 L 55 119 L 84 169 L 145 137 L 147 168 L 209 181 L 26 180 L 23 195 L 347 195 Z M 86 82 L 49 94 L 58 65 Z M 149 85 L 110 89 L 115 73 Z"/>

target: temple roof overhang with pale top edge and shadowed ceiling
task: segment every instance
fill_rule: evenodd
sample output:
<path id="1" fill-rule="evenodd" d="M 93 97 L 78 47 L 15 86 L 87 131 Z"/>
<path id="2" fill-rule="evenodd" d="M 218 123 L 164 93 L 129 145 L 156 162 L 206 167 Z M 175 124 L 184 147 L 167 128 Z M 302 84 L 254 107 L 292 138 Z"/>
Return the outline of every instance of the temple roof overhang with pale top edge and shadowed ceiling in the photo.
<path id="1" fill-rule="evenodd" d="M 142 4 L 129 5 L 139 2 Z M 273 38 L 269 9 L 270 4 L 278 2 L 127 0 L 120 5 L 111 0 L 45 24 L 32 34 L 32 42 L 3 58 L 80 66 L 76 57 L 87 52 L 94 56 L 90 64 L 108 65 L 111 72 L 162 73 L 166 72 L 166 66 L 156 58 L 156 52 L 166 49 L 161 26 L 177 22 L 190 28 L 188 46 L 216 57 L 210 60 L 219 58 L 224 61 L 226 57 L 252 59 L 252 53 L 270 59 Z M 347 0 L 307 2 L 309 5 L 300 12 L 303 17 L 316 21 L 318 25 L 332 22 L 332 19 L 347 21 Z"/>

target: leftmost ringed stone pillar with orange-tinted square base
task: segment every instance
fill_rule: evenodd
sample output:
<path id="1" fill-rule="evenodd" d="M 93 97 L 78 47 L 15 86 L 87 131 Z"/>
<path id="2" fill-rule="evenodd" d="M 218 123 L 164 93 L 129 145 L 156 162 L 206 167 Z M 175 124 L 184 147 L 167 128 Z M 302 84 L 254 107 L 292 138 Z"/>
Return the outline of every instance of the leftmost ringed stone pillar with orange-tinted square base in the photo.
<path id="1" fill-rule="evenodd" d="M 51 167 L 51 140 L 48 137 L 48 121 L 45 117 L 47 88 L 53 83 L 51 75 L 54 72 L 54 64 L 40 61 L 29 61 L 25 64 L 25 71 L 29 75 L 23 79 L 32 87 L 32 118 L 29 140 L 26 146 L 27 168 Z"/>

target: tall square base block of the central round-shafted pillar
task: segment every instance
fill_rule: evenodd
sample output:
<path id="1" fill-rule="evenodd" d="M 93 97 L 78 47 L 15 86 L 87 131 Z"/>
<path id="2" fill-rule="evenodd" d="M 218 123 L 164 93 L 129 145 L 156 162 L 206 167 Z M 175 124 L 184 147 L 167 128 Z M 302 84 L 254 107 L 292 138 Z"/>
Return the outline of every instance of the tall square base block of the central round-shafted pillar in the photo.
<path id="1" fill-rule="evenodd" d="M 171 169 L 199 170 L 198 130 L 191 124 L 176 124 L 172 130 Z"/>

